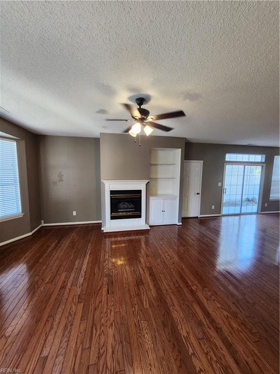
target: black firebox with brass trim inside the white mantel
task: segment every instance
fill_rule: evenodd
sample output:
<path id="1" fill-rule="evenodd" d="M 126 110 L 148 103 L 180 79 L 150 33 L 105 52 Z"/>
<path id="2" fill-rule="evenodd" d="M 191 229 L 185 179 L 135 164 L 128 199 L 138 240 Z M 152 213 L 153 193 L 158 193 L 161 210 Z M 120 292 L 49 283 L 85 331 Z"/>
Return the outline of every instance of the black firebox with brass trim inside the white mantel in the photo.
<path id="1" fill-rule="evenodd" d="M 141 218 L 141 193 L 140 189 L 111 190 L 111 220 Z"/>

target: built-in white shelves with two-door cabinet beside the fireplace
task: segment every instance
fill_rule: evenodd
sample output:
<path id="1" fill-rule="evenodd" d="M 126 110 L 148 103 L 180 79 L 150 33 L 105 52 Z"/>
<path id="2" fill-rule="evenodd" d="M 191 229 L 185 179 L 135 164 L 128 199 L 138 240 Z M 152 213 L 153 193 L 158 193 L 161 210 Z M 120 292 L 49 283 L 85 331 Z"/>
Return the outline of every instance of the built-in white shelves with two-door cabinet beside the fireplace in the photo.
<path id="1" fill-rule="evenodd" d="M 181 150 L 153 148 L 150 153 L 149 224 L 178 220 Z"/>

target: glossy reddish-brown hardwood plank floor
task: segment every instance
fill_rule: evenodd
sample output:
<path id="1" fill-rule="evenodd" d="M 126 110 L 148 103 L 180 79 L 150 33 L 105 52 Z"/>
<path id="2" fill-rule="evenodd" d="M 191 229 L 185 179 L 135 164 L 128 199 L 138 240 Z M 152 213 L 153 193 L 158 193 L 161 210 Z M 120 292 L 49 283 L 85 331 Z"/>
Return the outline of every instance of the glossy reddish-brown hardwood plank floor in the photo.
<path id="1" fill-rule="evenodd" d="M 279 215 L 44 227 L 1 247 L 0 368 L 278 373 Z"/>

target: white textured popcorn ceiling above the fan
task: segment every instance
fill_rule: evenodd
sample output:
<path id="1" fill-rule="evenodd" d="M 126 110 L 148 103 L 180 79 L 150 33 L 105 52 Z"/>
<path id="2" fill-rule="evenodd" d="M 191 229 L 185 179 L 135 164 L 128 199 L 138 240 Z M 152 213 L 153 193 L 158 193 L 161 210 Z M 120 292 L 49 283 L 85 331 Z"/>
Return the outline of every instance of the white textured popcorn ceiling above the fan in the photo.
<path id="1" fill-rule="evenodd" d="M 194 142 L 279 144 L 278 1 L 1 1 L 1 110 L 41 134 L 121 132 L 151 95 Z"/>

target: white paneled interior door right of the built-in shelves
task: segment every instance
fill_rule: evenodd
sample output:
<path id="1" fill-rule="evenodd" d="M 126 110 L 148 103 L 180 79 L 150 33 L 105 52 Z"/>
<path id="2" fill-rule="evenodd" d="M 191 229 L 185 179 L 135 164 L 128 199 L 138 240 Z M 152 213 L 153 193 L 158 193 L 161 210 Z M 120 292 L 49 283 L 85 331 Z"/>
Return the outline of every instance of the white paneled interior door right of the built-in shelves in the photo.
<path id="1" fill-rule="evenodd" d="M 184 161 L 182 217 L 199 216 L 202 165 L 202 161 Z"/>

